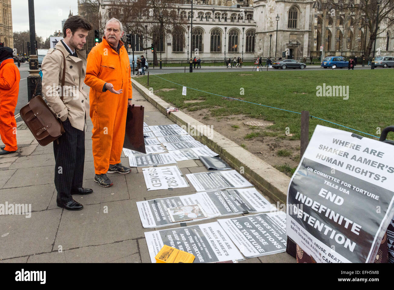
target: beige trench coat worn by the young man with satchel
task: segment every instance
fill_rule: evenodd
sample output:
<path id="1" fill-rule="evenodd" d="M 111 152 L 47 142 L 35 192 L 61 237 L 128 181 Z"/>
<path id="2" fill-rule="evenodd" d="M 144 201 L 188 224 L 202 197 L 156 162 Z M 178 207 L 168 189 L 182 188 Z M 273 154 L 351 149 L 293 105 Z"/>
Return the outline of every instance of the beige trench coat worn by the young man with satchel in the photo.
<path id="1" fill-rule="evenodd" d="M 63 56 L 66 58 L 66 76 L 63 89 L 63 102 L 60 99 L 61 76 L 63 74 Z M 41 64 L 43 71 L 43 96 L 50 104 L 56 116 L 61 121 L 67 117 L 71 126 L 84 130 L 85 115 L 89 112 L 87 101 L 88 89 L 83 88 L 86 73 L 86 52 L 77 50 L 78 58 L 69 54 L 59 41 L 55 48 L 51 48 Z"/>

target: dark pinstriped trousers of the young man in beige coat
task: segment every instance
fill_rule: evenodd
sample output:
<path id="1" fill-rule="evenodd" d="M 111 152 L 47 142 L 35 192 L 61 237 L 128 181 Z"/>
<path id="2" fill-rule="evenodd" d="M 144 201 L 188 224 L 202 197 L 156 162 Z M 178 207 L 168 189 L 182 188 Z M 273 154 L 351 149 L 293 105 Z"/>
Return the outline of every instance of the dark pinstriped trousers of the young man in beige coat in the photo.
<path id="1" fill-rule="evenodd" d="M 71 126 L 69 119 L 62 122 L 65 133 L 53 142 L 55 155 L 55 187 L 57 201 L 72 200 L 71 190 L 82 187 L 85 162 L 85 131 Z"/>

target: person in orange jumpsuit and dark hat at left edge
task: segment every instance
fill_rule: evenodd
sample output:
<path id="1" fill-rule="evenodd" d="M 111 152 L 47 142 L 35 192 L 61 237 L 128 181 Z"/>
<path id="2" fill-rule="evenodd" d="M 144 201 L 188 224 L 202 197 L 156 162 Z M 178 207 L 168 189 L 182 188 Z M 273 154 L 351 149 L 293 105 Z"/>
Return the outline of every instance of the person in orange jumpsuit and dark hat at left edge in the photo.
<path id="1" fill-rule="evenodd" d="M 18 102 L 20 73 L 14 64 L 13 50 L 0 47 L 0 155 L 17 151 L 17 122 L 15 107 Z"/>

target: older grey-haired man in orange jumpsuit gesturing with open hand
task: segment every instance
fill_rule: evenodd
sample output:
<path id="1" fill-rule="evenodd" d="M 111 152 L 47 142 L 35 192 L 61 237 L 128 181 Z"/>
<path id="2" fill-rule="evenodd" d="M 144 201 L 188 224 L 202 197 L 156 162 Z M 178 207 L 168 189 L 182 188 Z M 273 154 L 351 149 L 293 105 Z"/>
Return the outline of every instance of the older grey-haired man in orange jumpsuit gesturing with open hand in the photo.
<path id="1" fill-rule="evenodd" d="M 87 57 L 85 84 L 90 87 L 95 182 L 104 187 L 113 185 L 106 173 L 126 174 L 131 170 L 120 163 L 127 106 L 132 101 L 130 62 L 122 35 L 121 22 L 108 20 L 105 37 Z"/>

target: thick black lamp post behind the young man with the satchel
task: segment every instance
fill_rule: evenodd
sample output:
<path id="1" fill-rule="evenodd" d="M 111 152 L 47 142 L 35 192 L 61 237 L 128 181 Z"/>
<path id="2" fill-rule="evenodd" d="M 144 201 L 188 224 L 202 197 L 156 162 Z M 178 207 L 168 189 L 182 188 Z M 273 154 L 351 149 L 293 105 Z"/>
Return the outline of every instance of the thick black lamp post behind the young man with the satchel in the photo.
<path id="1" fill-rule="evenodd" d="M 36 52 L 35 48 L 35 22 L 34 22 L 34 0 L 28 0 L 29 7 L 29 29 L 30 29 L 30 51 L 33 53 Z M 28 101 L 33 98 L 33 93 L 35 87 L 37 86 L 37 91 L 35 95 L 41 95 L 41 78 L 39 76 L 38 69 L 38 57 L 37 55 L 31 55 L 29 57 L 29 75 L 27 77 L 27 94 Z"/>

